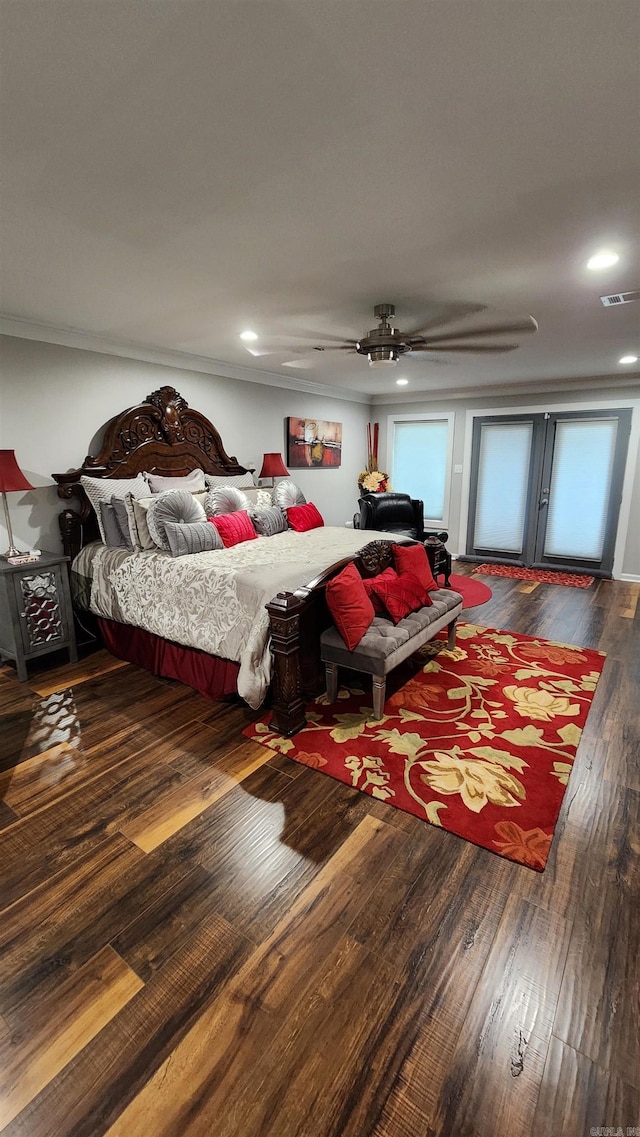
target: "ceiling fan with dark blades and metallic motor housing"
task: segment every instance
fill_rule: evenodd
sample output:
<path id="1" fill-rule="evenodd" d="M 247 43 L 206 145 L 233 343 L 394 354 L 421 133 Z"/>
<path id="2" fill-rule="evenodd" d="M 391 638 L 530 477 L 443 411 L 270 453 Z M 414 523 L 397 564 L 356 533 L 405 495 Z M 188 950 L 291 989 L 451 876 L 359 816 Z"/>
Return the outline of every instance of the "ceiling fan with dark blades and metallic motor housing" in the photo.
<path id="1" fill-rule="evenodd" d="M 472 312 L 482 312 L 483 306 L 475 306 Z M 373 309 L 376 319 L 380 321 L 377 327 L 373 327 L 359 340 L 346 340 L 343 343 L 327 347 L 316 347 L 315 351 L 352 351 L 357 355 L 366 356 L 371 367 L 389 367 L 398 363 L 400 356 L 408 355 L 409 351 L 468 351 L 468 352 L 502 352 L 515 351 L 518 343 L 468 343 L 460 341 L 477 340 L 484 335 L 522 334 L 524 332 L 537 332 L 538 322 L 533 316 L 525 316 L 524 319 L 515 323 L 492 324 L 485 327 L 467 329 L 462 332 L 442 334 L 435 332 L 437 327 L 442 327 L 451 319 L 459 318 L 459 313 L 448 319 L 440 319 L 418 327 L 413 332 L 402 332 L 392 324 L 396 308 L 392 304 L 376 304 Z M 466 315 L 469 314 L 465 313 Z M 433 333 L 430 334 L 432 332 Z"/>

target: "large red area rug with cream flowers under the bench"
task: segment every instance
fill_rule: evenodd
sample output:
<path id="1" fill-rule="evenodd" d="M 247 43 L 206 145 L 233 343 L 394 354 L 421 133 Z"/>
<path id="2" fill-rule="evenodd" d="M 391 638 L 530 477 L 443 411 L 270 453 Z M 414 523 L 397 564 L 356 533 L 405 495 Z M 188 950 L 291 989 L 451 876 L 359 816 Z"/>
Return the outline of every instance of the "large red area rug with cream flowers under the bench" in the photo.
<path id="1" fill-rule="evenodd" d="M 293 738 L 248 738 L 302 765 L 541 872 L 605 663 L 601 652 L 462 624 L 388 680 L 384 717 L 369 681 L 342 671 L 338 702 L 307 707 Z M 363 686 L 366 682 L 366 686 Z"/>

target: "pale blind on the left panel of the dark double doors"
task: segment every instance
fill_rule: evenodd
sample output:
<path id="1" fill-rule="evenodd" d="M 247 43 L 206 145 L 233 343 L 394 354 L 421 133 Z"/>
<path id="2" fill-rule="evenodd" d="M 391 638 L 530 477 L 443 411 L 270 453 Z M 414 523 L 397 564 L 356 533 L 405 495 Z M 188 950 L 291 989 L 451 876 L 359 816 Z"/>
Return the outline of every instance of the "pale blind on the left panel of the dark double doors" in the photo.
<path id="1" fill-rule="evenodd" d="M 482 423 L 473 545 L 522 553 L 533 423 Z"/>

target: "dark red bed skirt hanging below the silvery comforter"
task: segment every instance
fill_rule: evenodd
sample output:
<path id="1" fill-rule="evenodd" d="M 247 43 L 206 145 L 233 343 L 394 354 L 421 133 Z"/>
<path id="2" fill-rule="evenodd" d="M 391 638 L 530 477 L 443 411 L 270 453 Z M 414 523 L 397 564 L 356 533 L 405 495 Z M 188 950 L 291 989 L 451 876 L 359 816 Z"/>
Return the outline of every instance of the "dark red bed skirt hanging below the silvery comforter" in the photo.
<path id="1" fill-rule="evenodd" d="M 164 679 L 178 679 L 206 699 L 222 699 L 238 690 L 240 664 L 231 659 L 172 644 L 142 628 L 131 628 L 113 620 L 99 617 L 98 625 L 105 647 L 118 659 L 135 663 Z"/>

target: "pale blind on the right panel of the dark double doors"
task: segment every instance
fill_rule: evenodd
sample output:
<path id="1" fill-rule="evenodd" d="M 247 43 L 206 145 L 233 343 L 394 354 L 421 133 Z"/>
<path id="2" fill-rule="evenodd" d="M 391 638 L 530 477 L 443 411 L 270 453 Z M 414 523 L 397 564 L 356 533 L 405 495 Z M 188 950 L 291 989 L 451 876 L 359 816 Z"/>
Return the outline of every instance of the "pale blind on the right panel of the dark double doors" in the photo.
<path id="1" fill-rule="evenodd" d="M 556 423 L 545 556 L 600 561 L 617 420 Z"/>

